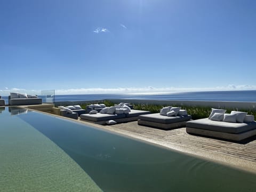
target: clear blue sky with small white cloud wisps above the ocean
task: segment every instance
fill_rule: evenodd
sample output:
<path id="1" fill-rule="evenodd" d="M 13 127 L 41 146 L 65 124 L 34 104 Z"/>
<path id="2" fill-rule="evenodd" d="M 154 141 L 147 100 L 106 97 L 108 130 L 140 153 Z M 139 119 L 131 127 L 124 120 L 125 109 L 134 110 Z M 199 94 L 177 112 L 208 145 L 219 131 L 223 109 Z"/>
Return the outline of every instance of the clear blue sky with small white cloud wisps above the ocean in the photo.
<path id="1" fill-rule="evenodd" d="M 0 0 L 0 94 L 256 90 L 256 1 Z"/>

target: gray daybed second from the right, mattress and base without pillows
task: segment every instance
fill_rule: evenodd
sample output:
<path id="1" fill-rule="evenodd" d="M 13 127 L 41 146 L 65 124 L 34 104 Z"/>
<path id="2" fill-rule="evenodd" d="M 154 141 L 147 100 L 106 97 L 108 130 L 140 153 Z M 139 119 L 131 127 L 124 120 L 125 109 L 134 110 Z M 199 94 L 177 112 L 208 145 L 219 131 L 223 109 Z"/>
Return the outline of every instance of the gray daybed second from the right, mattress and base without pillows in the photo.
<path id="1" fill-rule="evenodd" d="M 138 119 L 139 125 L 156 127 L 159 129 L 175 129 L 185 127 L 186 122 L 191 119 L 191 115 L 184 116 L 165 116 L 157 114 L 140 115 Z"/>

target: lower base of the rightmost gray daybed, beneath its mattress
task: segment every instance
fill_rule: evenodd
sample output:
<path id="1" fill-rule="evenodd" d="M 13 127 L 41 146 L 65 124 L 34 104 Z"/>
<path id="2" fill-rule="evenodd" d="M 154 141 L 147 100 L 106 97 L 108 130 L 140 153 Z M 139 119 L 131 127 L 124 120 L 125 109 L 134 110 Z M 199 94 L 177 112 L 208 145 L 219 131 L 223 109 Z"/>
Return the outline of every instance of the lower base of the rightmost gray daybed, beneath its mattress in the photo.
<path id="1" fill-rule="evenodd" d="M 243 139 L 246 139 L 246 138 L 252 137 L 253 135 L 256 135 L 256 129 L 242 132 L 242 133 L 223 133 L 223 132 L 217 132 L 217 131 L 210 131 L 210 130 L 186 127 L 186 131 L 187 131 L 187 133 L 205 135 L 205 136 L 209 136 L 209 137 L 228 139 L 228 140 L 234 140 L 234 141 L 241 141 Z"/>

